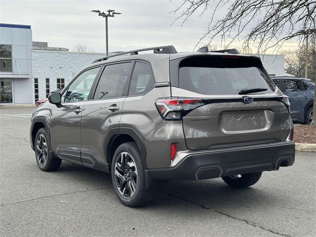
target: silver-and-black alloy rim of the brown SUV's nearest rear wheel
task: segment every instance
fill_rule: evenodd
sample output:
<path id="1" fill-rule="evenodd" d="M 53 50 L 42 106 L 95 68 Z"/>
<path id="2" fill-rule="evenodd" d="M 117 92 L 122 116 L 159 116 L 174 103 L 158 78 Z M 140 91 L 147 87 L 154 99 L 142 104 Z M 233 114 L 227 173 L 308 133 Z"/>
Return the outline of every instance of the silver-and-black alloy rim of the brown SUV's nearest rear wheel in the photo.
<path id="1" fill-rule="evenodd" d="M 125 198 L 133 197 L 137 187 L 137 168 L 134 158 L 128 152 L 118 155 L 114 172 L 118 192 Z"/>

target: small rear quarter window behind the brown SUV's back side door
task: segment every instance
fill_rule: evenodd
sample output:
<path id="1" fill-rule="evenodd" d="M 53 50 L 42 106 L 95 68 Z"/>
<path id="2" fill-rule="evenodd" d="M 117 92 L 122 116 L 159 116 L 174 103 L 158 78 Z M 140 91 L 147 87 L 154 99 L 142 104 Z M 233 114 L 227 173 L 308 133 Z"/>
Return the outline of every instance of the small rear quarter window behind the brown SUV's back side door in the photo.
<path id="1" fill-rule="evenodd" d="M 129 96 L 142 95 L 155 86 L 154 75 L 149 64 L 136 62 L 129 88 Z"/>

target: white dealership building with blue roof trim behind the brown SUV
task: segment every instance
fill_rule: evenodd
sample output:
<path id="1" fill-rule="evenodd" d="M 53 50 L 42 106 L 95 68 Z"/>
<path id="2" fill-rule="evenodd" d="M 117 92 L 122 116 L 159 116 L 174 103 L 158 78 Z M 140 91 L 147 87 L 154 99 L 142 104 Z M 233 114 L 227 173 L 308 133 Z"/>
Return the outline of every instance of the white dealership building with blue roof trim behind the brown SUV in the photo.
<path id="1" fill-rule="evenodd" d="M 29 25 L 0 24 L 0 105 L 34 104 L 103 56 L 48 47 L 47 42 L 32 42 Z M 261 59 L 269 75 L 286 76 L 283 55 Z"/>

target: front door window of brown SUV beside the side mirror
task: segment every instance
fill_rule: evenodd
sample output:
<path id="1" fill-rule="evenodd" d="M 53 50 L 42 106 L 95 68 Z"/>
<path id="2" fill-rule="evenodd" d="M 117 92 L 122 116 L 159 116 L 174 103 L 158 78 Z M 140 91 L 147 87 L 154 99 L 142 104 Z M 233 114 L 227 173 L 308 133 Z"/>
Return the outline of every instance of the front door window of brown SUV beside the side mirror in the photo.
<path id="1" fill-rule="evenodd" d="M 88 99 L 91 86 L 96 78 L 100 67 L 87 70 L 79 75 L 62 95 L 62 101 L 73 102 Z"/>

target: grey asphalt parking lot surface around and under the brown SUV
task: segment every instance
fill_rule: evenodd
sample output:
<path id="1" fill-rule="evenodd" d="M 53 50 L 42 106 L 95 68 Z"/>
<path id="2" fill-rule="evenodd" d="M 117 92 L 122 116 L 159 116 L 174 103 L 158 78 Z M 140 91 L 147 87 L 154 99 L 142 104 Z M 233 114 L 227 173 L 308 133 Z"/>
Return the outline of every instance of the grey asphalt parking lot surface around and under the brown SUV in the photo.
<path id="1" fill-rule="evenodd" d="M 0 107 L 0 236 L 316 236 L 315 153 L 297 153 L 293 166 L 248 189 L 174 181 L 129 208 L 109 174 L 66 161 L 40 171 L 29 142 L 33 109 Z"/>

